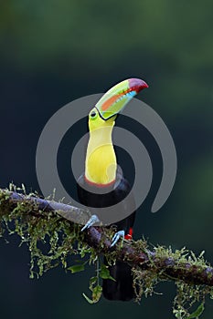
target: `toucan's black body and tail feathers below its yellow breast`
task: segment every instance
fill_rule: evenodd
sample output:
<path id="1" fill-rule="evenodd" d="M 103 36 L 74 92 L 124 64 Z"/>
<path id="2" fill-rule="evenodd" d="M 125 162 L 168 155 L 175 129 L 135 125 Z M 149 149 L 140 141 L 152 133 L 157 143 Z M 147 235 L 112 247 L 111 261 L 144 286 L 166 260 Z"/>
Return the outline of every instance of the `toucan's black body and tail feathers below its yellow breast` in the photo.
<path id="1" fill-rule="evenodd" d="M 86 190 L 85 190 L 86 189 Z M 124 200 L 129 194 L 131 187 L 127 180 L 125 180 L 120 172 L 116 174 L 116 180 L 111 185 L 104 189 L 104 193 L 99 193 L 100 188 L 85 180 L 84 174 L 78 180 L 78 196 L 80 202 L 89 207 L 93 207 L 92 213 L 98 216 L 97 208 L 108 207 Z M 128 201 L 122 201 L 119 210 L 133 211 L 134 200 L 133 196 L 129 196 Z M 99 217 L 99 216 L 98 216 Z M 133 222 L 135 218 L 135 211 L 129 216 L 117 221 L 114 224 L 117 226 L 117 231 L 124 231 L 127 235 L 133 229 Z M 104 262 L 106 262 L 104 260 Z M 115 279 L 104 279 L 102 283 L 102 293 L 106 299 L 129 301 L 133 299 L 133 275 L 131 267 L 125 262 L 116 262 L 109 266 L 110 273 Z"/>

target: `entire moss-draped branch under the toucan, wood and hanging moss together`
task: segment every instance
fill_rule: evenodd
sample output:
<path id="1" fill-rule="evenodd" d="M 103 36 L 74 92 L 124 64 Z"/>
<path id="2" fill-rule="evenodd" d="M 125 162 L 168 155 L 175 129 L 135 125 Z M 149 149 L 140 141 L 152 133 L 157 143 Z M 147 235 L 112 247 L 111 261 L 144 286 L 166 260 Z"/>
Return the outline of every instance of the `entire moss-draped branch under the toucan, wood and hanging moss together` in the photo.
<path id="1" fill-rule="evenodd" d="M 111 248 L 113 227 L 91 227 L 80 232 L 80 223 L 70 221 L 70 216 L 71 220 L 83 224 L 88 221 L 90 212 L 62 202 L 44 200 L 35 194 L 18 193 L 14 187 L 0 190 L 0 234 L 7 229 L 9 233 L 17 233 L 21 242 L 27 242 L 31 252 L 31 277 L 35 273 L 41 275 L 59 263 L 72 273 L 81 271 L 87 262 L 94 263 L 103 254 L 109 264 L 120 260 L 133 267 L 136 300 L 140 300 L 143 294 L 154 293 L 154 286 L 160 281 L 175 281 L 174 314 L 177 318 L 190 318 L 186 304 L 201 301 L 203 305 L 205 296 L 213 294 L 213 268 L 204 260 L 203 253 L 196 257 L 185 248 L 172 252 L 171 248 L 163 246 L 151 251 L 144 240 L 124 241 Z M 38 242 L 48 245 L 48 253 L 38 248 Z M 80 254 L 83 259 L 89 256 L 89 259 L 81 265 L 69 266 L 71 254 Z M 105 269 L 106 276 L 107 268 L 102 269 Z M 91 278 L 90 287 L 92 302 L 97 302 L 101 288 L 98 284 L 94 286 L 98 282 L 94 278 Z"/>

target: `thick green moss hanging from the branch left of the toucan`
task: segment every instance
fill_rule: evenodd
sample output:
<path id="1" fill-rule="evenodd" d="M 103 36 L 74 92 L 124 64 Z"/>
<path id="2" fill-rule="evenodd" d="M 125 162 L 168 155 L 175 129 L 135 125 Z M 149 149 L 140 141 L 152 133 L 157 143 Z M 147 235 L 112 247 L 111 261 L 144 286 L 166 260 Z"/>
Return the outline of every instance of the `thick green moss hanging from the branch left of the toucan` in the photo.
<path id="1" fill-rule="evenodd" d="M 80 225 L 62 219 L 57 212 L 40 211 L 37 204 L 29 201 L 14 205 L 9 201 L 9 194 L 9 190 L 0 190 L 1 233 L 6 229 L 20 237 L 20 244 L 27 243 L 31 278 L 59 264 L 66 269 L 67 260 L 73 254 L 80 254 L 81 258 L 90 254 L 91 261 L 95 260 L 94 250 L 82 241 Z"/>

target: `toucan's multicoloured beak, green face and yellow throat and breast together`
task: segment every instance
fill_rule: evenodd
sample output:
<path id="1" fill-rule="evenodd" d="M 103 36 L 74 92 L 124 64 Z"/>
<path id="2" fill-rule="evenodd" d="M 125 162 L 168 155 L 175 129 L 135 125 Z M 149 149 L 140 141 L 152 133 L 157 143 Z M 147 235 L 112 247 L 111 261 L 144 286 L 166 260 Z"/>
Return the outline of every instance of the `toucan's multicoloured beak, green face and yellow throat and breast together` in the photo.
<path id="1" fill-rule="evenodd" d="M 122 108 L 147 84 L 139 78 L 122 81 L 107 91 L 89 114 L 90 139 L 85 160 L 85 178 L 106 185 L 116 178 L 117 161 L 112 145 L 114 120 Z"/>

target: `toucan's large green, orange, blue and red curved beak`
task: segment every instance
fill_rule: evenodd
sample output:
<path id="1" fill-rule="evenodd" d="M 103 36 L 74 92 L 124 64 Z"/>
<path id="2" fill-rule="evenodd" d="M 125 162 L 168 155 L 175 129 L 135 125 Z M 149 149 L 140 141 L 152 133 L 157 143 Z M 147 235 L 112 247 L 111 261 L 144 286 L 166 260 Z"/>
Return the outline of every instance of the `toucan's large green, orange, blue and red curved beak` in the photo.
<path id="1" fill-rule="evenodd" d="M 109 89 L 95 107 L 101 118 L 112 118 L 121 112 L 122 108 L 145 87 L 148 85 L 140 78 L 126 79 Z"/>

